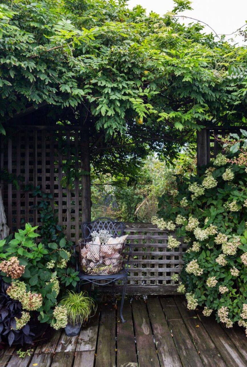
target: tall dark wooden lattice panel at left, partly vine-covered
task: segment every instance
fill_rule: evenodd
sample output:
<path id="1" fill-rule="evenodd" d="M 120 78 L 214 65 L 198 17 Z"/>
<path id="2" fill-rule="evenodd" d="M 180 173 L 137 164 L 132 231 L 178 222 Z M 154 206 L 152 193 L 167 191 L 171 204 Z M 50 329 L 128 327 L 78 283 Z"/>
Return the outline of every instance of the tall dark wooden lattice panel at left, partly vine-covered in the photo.
<path id="1" fill-rule="evenodd" d="M 81 224 L 79 180 L 75 179 L 72 189 L 61 185 L 64 162 L 74 155 L 75 168 L 81 164 L 77 149 L 80 143 L 78 131 L 15 129 L 7 131 L 7 136 L 1 137 L 0 169 L 23 179 L 20 190 L 11 183 L 2 185 L 7 224 L 11 231 L 23 228 L 26 222 L 40 225 L 37 207 L 44 199 L 33 196 L 32 191 L 25 191 L 25 185 L 32 184 L 53 195 L 50 204 L 59 224 L 68 239 L 78 241 Z M 61 139 L 66 149 L 61 148 Z"/>

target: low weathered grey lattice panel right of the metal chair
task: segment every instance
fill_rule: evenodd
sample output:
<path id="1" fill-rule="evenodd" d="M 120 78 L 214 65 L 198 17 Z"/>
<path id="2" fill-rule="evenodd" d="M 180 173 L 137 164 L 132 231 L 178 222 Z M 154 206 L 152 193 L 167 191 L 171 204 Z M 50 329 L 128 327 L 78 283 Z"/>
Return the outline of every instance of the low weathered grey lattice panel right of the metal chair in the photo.
<path id="1" fill-rule="evenodd" d="M 128 292 L 140 287 L 144 294 L 145 290 L 146 294 L 162 292 L 163 286 L 176 289 L 171 276 L 181 272 L 187 244 L 182 243 L 174 251 L 167 250 L 170 233 L 148 223 L 127 224 L 125 233 L 129 234 L 128 242 L 134 244 L 129 261 Z"/>

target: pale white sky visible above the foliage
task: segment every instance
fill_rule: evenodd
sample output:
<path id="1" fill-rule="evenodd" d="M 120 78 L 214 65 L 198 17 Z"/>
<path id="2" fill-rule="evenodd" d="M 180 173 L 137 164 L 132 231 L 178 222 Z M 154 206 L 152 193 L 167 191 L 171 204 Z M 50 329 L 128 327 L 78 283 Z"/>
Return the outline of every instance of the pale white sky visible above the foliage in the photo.
<path id="1" fill-rule="evenodd" d="M 173 9 L 174 3 L 172 0 L 129 0 L 129 8 L 137 4 L 143 6 L 147 13 L 152 10 L 163 15 Z M 247 0 L 192 0 L 192 8 L 193 10 L 185 11 L 181 15 L 187 15 L 209 24 L 216 33 L 232 33 L 244 25 L 247 20 Z M 180 22 L 187 24 L 191 20 L 181 18 Z M 205 31 L 210 32 L 210 29 L 206 27 Z M 243 44 L 243 38 L 237 36 L 236 42 Z"/>

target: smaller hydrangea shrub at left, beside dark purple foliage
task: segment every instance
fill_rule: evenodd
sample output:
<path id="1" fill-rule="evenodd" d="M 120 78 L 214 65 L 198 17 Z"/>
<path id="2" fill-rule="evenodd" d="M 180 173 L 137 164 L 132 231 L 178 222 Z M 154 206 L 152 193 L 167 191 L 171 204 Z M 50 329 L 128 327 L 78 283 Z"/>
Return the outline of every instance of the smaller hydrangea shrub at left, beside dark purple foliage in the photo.
<path id="1" fill-rule="evenodd" d="M 36 229 L 27 223 L 13 239 L 0 241 L 0 276 L 8 284 L 5 293 L 21 305 L 13 331 L 23 329 L 33 319 L 32 312 L 56 330 L 65 327 L 66 310 L 59 306 L 59 294 L 61 288 L 76 287 L 79 280 L 78 272 L 68 266 L 71 243 L 64 237 L 58 243 L 36 243 Z"/>

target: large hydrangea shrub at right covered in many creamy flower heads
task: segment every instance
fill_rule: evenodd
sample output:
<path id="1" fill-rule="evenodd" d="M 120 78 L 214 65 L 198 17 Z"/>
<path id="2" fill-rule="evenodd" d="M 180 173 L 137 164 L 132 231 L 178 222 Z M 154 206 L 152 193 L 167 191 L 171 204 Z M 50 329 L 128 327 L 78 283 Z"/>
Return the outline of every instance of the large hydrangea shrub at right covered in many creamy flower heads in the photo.
<path id="1" fill-rule="evenodd" d="M 177 176 L 177 195 L 160 198 L 162 219 L 153 222 L 174 230 L 168 249 L 188 242 L 178 286 L 188 308 L 203 306 L 204 316 L 214 311 L 218 322 L 247 332 L 247 168 L 239 154 L 228 149 L 200 174 Z"/>

